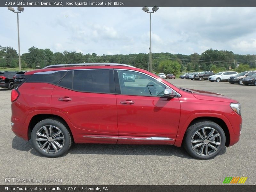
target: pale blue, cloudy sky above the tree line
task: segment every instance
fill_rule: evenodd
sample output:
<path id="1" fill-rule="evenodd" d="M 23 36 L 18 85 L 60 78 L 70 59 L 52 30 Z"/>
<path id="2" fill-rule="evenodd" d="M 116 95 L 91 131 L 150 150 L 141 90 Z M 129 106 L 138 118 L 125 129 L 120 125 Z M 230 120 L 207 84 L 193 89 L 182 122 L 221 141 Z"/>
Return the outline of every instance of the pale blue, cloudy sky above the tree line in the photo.
<path id="1" fill-rule="evenodd" d="M 141 7 L 25 7 L 19 13 L 20 51 L 148 53 L 149 15 Z M 0 7 L 0 18 L 0 45 L 18 51 L 17 14 Z M 152 14 L 153 53 L 210 48 L 256 54 L 256 8 L 160 7 Z"/>

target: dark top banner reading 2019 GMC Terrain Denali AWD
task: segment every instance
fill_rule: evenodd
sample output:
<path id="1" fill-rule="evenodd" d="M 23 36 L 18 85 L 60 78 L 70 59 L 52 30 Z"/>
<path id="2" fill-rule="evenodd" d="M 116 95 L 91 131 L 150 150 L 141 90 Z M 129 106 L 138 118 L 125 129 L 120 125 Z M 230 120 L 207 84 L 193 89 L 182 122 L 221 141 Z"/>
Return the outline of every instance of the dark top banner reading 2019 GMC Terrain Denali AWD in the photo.
<path id="1" fill-rule="evenodd" d="M 1 0 L 0 7 L 256 7 L 255 0 Z"/>

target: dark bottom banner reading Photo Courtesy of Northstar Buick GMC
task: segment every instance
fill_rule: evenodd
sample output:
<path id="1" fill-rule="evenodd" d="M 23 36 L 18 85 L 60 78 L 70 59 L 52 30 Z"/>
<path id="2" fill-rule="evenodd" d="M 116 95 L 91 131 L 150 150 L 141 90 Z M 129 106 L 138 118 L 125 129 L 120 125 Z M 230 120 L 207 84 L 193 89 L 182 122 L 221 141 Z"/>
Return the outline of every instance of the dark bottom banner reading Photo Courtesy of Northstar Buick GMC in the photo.
<path id="1" fill-rule="evenodd" d="M 82 185 L 63 185 L 63 186 L 43 186 L 43 185 L 25 185 L 25 186 L 0 186 L 1 192 L 169 192 L 169 191 L 189 191 L 189 192 L 216 192 L 216 191 L 225 191 L 225 192 L 251 192 L 256 191 L 256 186 L 250 185 L 221 185 L 221 186 L 144 186 L 144 185 L 125 185 L 125 186 L 113 186 L 113 185 L 100 185 L 100 186 L 82 186 Z"/>

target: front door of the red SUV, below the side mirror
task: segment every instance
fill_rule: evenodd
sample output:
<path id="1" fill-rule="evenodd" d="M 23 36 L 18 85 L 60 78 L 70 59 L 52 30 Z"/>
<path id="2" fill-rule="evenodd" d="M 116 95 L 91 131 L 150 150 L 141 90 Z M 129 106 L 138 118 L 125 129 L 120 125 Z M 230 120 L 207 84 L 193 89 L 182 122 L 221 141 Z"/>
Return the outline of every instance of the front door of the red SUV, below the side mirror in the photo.
<path id="1" fill-rule="evenodd" d="M 124 73 L 138 78 L 129 82 Z M 179 98 L 164 98 L 166 85 L 134 71 L 115 71 L 115 83 L 117 143 L 173 144 L 180 120 Z"/>

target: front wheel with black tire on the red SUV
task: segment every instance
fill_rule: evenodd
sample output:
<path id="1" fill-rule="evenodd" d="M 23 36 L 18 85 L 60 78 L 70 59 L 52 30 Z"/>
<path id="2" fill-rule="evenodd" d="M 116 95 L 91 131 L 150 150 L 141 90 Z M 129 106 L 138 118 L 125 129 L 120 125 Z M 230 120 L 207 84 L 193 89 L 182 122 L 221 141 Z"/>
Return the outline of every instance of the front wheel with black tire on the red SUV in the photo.
<path id="1" fill-rule="evenodd" d="M 205 120 L 188 127 L 183 145 L 190 156 L 197 159 L 211 159 L 223 151 L 225 142 L 226 136 L 220 125 L 213 121 Z M 201 152 L 202 154 L 200 154 Z"/>

